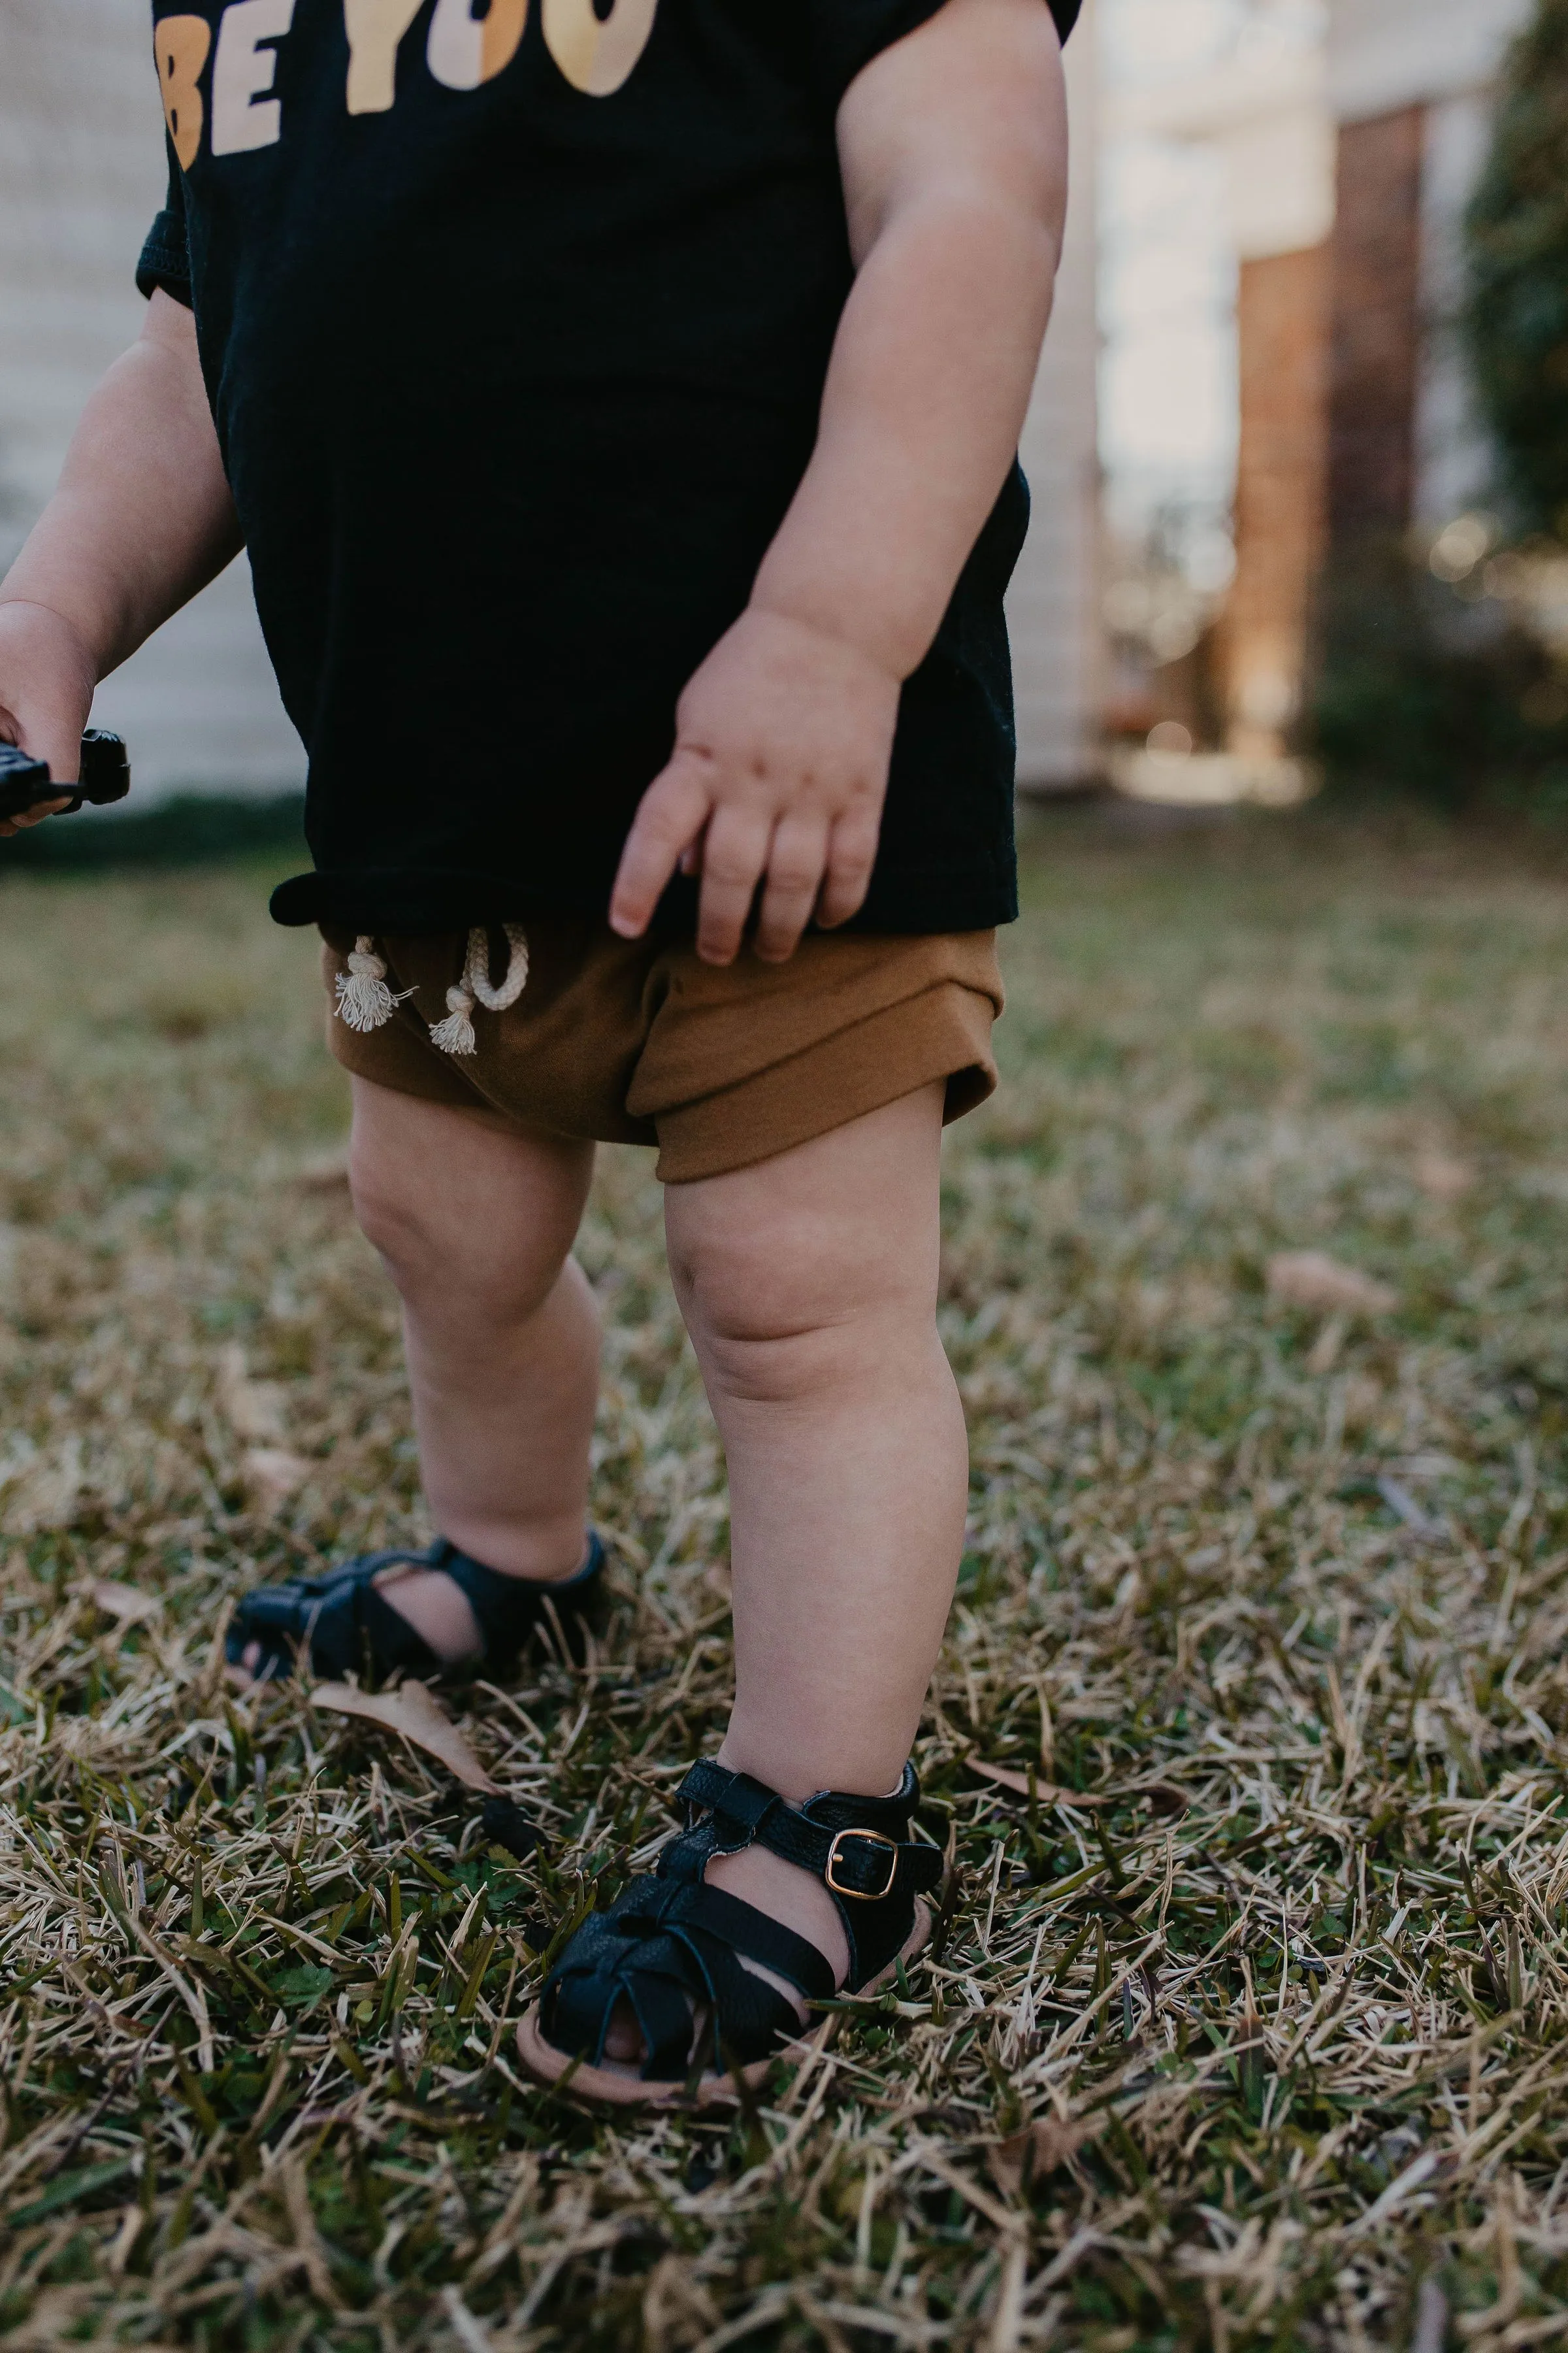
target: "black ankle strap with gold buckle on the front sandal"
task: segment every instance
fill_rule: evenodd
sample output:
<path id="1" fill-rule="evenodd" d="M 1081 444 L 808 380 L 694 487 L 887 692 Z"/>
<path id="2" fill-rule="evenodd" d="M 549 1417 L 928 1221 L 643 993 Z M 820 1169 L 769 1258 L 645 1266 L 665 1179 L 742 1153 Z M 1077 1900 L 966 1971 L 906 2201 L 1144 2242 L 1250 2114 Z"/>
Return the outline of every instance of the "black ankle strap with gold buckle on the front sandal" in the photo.
<path id="1" fill-rule="evenodd" d="M 696 1875 L 712 1854 L 736 1854 L 759 1845 L 785 1864 L 797 1864 L 839 1899 L 879 1904 L 889 1897 L 926 1894 L 943 1878 L 938 1847 L 907 1838 L 910 1817 L 919 1805 L 919 1779 L 905 1765 L 891 1798 L 856 1798 L 844 1791 L 818 1791 L 795 1809 L 778 1791 L 729 1772 L 703 1758 L 675 1793 L 689 1817 L 710 1821 L 691 1845 Z M 679 1842 L 682 1847 L 686 1840 Z M 696 1847 L 701 1845 L 701 1857 Z M 675 1849 L 672 1849 L 675 1852 Z M 686 1861 L 686 1857 L 682 1857 Z"/>

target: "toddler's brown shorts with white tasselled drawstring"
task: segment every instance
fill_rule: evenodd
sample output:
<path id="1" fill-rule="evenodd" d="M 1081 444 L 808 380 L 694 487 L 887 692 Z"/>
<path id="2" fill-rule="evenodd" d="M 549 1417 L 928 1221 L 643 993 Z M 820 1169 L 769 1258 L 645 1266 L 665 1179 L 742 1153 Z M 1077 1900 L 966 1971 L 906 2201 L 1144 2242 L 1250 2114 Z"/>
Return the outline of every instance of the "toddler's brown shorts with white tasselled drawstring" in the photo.
<path id="1" fill-rule="evenodd" d="M 458 981 L 463 932 L 378 939 L 390 1021 L 357 1033 L 327 1014 L 327 1045 L 360 1078 L 520 1127 L 656 1144 L 665 1184 L 722 1176 L 947 1080 L 957 1120 L 997 1085 L 994 932 L 917 939 L 809 934 L 788 965 L 750 951 L 726 969 L 689 941 L 618 939 L 609 925 L 529 925 L 529 981 L 510 1012 L 473 1014 L 475 1052 L 430 1040 Z M 327 934 L 329 1002 L 353 939 Z M 494 941 L 496 981 L 505 941 Z"/>

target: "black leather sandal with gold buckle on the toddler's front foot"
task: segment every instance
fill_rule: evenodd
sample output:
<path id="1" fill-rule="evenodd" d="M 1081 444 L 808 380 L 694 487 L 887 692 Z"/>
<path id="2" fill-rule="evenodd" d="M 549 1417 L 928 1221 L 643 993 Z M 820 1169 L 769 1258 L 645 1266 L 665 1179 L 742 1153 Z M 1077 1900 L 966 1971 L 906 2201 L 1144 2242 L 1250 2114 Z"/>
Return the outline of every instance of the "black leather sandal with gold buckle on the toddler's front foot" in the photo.
<path id="1" fill-rule="evenodd" d="M 762 1781 L 703 1762 L 675 1800 L 689 1828 L 665 1847 L 658 1875 L 632 1880 L 576 1932 L 517 2028 L 536 2082 L 571 2078 L 569 2094 L 618 2108 L 733 2099 L 736 2075 L 759 2085 L 783 2057 L 780 2045 L 802 2035 L 795 2005 L 743 1969 L 741 1955 L 809 2002 L 835 1998 L 832 1969 L 813 1944 L 755 1904 L 703 1885 L 715 1854 L 769 1847 L 827 1887 L 849 1939 L 846 1993 L 875 1993 L 931 1937 L 931 1908 L 919 1894 L 938 1885 L 943 1857 L 907 1835 L 919 1805 L 912 1765 L 893 1798 L 823 1791 L 797 1812 Z M 639 2068 L 604 2064 L 621 2002 L 642 2031 Z"/>

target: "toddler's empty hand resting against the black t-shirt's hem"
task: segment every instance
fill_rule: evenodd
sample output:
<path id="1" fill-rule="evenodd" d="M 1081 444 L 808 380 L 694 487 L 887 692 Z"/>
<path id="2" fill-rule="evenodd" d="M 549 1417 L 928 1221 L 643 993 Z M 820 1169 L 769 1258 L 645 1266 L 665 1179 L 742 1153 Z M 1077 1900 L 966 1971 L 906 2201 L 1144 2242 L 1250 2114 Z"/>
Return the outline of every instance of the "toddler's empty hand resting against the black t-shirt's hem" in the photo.
<path id="1" fill-rule="evenodd" d="M 766 878 L 757 955 L 811 918 L 849 922 L 872 875 L 900 680 L 846 638 L 748 607 L 679 701 L 675 755 L 642 795 L 609 920 L 639 939 L 675 868 L 701 873 L 696 946 L 729 965 Z"/>

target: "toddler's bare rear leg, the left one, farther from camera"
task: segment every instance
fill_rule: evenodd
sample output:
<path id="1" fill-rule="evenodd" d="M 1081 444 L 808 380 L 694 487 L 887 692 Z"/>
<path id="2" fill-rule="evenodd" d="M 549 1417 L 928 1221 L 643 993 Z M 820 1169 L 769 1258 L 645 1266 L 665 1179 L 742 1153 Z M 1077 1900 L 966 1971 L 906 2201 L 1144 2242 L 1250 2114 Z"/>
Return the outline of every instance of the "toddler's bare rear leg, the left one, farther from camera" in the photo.
<path id="1" fill-rule="evenodd" d="M 583 1565 L 599 1320 L 576 1259 L 592 1146 L 353 1080 L 355 1214 L 402 1294 L 425 1497 L 501 1574 Z M 383 1600 L 449 1661 L 477 1657 L 463 1593 L 397 1572 Z M 254 1666 L 254 1657 L 247 1657 Z"/>

